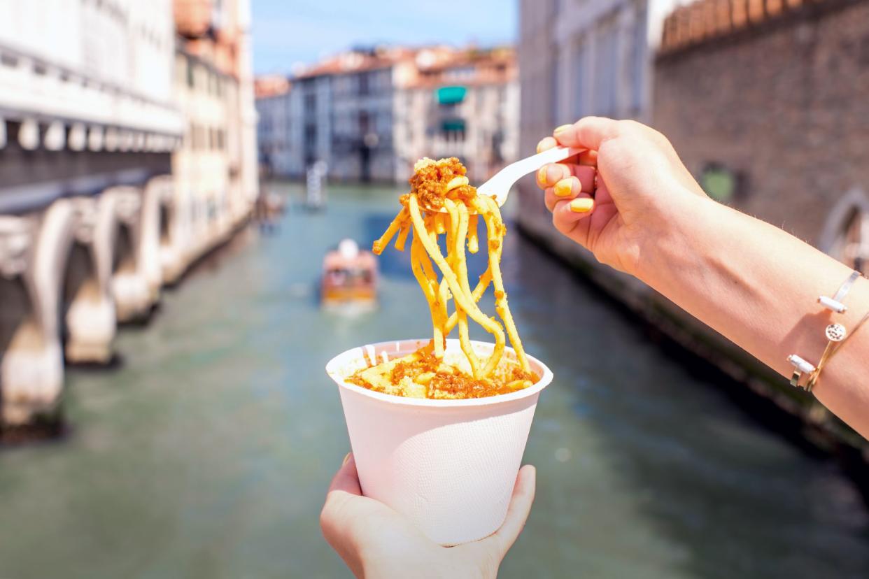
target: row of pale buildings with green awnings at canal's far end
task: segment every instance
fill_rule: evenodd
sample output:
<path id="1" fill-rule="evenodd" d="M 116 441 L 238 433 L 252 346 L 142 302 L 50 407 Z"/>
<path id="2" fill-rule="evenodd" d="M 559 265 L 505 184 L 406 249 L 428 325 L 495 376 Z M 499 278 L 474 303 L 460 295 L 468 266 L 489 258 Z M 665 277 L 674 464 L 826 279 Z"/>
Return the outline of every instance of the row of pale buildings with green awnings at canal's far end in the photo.
<path id="1" fill-rule="evenodd" d="M 355 50 L 259 101 L 260 158 L 279 176 L 323 161 L 335 180 L 401 182 L 420 157 L 454 155 L 483 179 L 518 150 L 512 49 Z"/>

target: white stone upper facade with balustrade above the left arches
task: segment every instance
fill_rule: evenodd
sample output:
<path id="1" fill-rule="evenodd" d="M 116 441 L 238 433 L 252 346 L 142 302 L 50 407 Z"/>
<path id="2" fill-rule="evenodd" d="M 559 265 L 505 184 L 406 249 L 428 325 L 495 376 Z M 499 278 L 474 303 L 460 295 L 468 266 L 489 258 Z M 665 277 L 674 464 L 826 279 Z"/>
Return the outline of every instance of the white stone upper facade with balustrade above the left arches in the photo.
<path id="1" fill-rule="evenodd" d="M 174 53 L 171 0 L 0 0 L 0 213 L 168 171 Z"/>

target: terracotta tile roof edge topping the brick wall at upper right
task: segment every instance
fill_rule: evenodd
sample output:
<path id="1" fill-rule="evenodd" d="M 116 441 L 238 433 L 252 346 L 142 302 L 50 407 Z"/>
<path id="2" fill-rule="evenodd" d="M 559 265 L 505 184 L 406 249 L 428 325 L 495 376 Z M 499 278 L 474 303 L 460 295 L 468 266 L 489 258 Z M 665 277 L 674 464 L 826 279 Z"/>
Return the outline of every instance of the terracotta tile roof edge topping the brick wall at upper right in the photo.
<path id="1" fill-rule="evenodd" d="M 697 0 L 664 21 L 660 52 L 666 54 L 720 38 L 830 0 Z"/>

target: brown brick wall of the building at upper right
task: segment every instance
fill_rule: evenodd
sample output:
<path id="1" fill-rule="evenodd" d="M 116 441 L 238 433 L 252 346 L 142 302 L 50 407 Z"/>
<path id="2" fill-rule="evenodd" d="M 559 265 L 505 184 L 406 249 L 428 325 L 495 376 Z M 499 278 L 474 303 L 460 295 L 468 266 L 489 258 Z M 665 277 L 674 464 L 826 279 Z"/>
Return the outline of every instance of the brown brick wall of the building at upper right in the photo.
<path id="1" fill-rule="evenodd" d="M 857 193 L 869 190 L 869 2 L 775 3 L 730 27 L 709 10 L 743 3 L 703 0 L 667 21 L 653 124 L 693 174 L 740 176 L 734 206 L 835 254 L 843 204 L 869 205 Z"/>

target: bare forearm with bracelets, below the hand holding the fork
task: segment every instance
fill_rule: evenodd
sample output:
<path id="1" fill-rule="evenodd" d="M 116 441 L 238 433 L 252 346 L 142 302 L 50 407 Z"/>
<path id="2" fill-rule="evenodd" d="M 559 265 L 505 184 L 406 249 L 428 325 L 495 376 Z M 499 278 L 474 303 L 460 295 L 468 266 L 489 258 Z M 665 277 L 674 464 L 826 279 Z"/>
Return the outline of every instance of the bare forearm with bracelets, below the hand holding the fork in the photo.
<path id="1" fill-rule="evenodd" d="M 778 227 L 713 201 L 694 198 L 673 212 L 673 234 L 643 253 L 640 278 L 674 303 L 789 377 L 786 358 L 817 363 L 832 321 L 852 330 L 869 311 L 869 281 L 848 293 L 848 311 L 819 306 L 851 269 Z M 867 324 L 869 326 L 869 324 Z M 814 393 L 869 435 L 869 327 L 848 339 Z"/>

